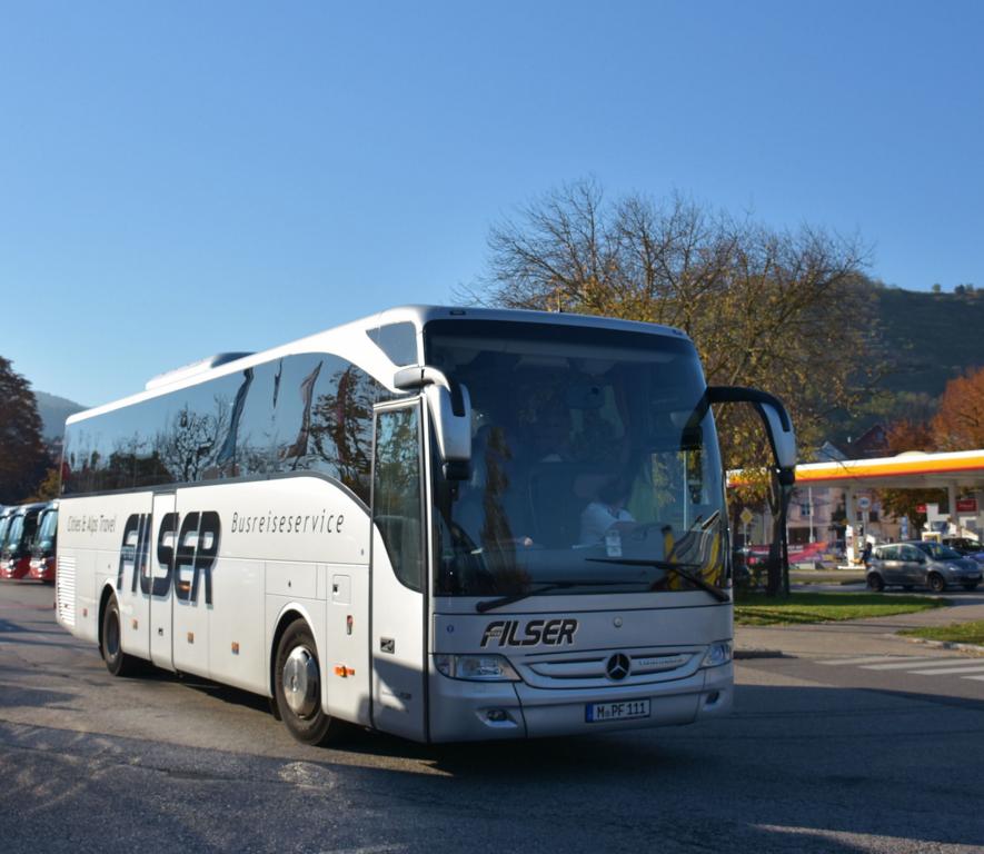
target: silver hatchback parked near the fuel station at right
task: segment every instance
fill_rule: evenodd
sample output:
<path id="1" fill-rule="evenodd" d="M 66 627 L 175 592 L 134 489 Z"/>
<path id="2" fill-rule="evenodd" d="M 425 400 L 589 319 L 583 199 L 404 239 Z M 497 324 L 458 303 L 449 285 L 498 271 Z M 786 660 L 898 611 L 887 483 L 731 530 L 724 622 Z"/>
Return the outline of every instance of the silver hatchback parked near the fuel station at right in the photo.
<path id="1" fill-rule="evenodd" d="M 943 593 L 947 587 L 955 586 L 973 590 L 981 583 L 981 576 L 980 564 L 963 557 L 950 546 L 910 540 L 875 546 L 867 584 L 872 590 L 902 586 L 906 590 L 928 587 L 933 593 Z"/>

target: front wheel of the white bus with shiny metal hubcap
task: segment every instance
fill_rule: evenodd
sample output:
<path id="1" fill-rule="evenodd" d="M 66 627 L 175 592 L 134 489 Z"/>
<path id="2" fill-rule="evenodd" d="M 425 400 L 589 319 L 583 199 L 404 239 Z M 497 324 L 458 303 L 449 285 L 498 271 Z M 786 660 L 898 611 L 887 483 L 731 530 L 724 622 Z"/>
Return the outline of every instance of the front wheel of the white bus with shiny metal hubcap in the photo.
<path id="1" fill-rule="evenodd" d="M 302 744 L 324 744 L 331 729 L 331 716 L 321 708 L 321 676 L 311 629 L 296 619 L 277 645 L 274 694 L 280 718 Z"/>

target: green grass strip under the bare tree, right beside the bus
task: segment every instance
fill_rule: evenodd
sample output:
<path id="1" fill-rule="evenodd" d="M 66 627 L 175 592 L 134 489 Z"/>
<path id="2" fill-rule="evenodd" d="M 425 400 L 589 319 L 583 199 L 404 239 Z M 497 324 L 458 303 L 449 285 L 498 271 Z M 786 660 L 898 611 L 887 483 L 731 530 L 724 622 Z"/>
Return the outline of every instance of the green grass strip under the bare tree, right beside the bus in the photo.
<path id="1" fill-rule="evenodd" d="M 764 594 L 745 594 L 735 603 L 735 623 L 739 626 L 832 623 L 913 614 L 945 605 L 944 599 L 883 593 L 794 593 L 775 599 Z"/>

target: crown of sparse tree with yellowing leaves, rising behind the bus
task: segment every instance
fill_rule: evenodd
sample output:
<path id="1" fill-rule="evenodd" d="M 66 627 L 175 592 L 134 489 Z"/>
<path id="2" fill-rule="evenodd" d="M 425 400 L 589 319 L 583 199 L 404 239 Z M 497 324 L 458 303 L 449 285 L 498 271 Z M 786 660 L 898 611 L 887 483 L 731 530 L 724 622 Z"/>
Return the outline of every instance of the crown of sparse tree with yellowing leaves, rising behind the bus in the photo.
<path id="1" fill-rule="evenodd" d="M 463 301 L 682 328 L 709 384 L 777 394 L 807 447 L 876 369 L 874 292 L 856 238 L 809 226 L 776 231 L 680 195 L 608 202 L 587 180 L 495 226 L 488 246 L 486 275 L 458 294 Z M 755 419 L 726 411 L 718 426 L 728 466 L 761 463 Z"/>

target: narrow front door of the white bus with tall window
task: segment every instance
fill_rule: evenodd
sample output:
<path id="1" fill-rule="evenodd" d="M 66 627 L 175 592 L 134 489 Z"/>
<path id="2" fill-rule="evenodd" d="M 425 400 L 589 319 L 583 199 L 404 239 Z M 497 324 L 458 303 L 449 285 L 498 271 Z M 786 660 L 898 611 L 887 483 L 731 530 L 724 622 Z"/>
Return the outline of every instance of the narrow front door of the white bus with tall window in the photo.
<path id="1" fill-rule="evenodd" d="M 372 723 L 427 738 L 427 593 L 420 398 L 376 407 Z"/>

